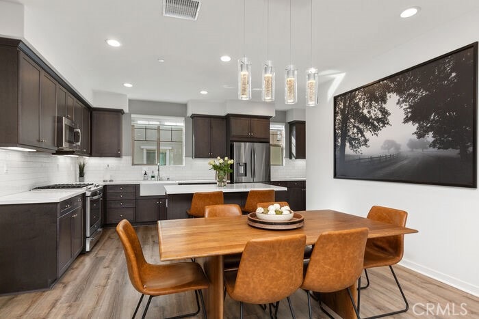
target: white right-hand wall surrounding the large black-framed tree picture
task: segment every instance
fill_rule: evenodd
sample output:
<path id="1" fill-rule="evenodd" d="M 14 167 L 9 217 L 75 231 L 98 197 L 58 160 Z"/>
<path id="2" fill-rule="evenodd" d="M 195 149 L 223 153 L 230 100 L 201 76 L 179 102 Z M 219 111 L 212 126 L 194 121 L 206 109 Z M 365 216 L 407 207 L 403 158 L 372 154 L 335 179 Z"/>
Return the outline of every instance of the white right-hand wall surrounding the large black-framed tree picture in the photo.
<path id="1" fill-rule="evenodd" d="M 402 264 L 479 296 L 479 192 L 428 186 L 333 178 L 332 96 L 371 83 L 479 40 L 479 14 L 471 12 L 450 25 L 413 35 L 393 51 L 357 61 L 337 85 L 322 86 L 318 107 L 307 108 L 307 208 L 331 208 L 365 216 L 373 205 L 409 212 Z M 340 79 L 340 78 L 339 78 Z"/>

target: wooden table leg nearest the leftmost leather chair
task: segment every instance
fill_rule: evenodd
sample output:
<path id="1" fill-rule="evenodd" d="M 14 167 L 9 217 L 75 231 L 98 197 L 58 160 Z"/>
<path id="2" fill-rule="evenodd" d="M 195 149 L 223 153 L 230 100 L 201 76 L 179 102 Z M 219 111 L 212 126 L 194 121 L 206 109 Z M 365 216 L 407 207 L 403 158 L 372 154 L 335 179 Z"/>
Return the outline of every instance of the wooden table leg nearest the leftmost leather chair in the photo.
<path id="1" fill-rule="evenodd" d="M 205 294 L 205 307 L 208 318 L 222 319 L 224 311 L 223 256 L 198 258 L 198 262 L 202 264 L 203 270 L 209 279 L 209 288 Z"/>

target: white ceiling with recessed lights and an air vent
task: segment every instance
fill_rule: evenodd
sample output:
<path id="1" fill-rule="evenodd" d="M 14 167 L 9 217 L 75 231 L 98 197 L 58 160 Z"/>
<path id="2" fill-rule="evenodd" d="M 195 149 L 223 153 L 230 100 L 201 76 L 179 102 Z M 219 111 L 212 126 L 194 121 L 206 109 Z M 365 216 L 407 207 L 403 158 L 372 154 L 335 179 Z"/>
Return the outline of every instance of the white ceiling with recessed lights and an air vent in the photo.
<path id="1" fill-rule="evenodd" d="M 204 0 L 196 21 L 162 16 L 161 0 L 16 2 L 35 23 L 41 21 L 30 27 L 42 29 L 44 42 L 59 48 L 92 89 L 166 102 L 235 99 L 237 59 L 244 54 L 252 60 L 253 87 L 261 87 L 266 0 L 246 0 L 245 45 L 241 0 Z M 304 72 L 311 66 L 310 0 L 292 3 L 290 59 L 289 0 L 270 0 L 269 57 L 276 66 L 279 110 L 291 108 L 283 102 L 285 66 L 291 61 L 298 67 L 300 99 L 294 108 L 304 107 Z M 422 8 L 419 14 L 400 18 L 413 5 Z M 472 10 L 479 10 L 478 0 L 313 0 L 313 66 L 320 74 L 342 72 Z M 107 46 L 107 38 L 122 46 Z M 232 57 L 228 63 L 220 61 L 225 54 Z M 166 61 L 159 63 L 159 57 Z M 134 86 L 125 88 L 125 82 Z M 201 89 L 209 94 L 201 95 Z M 253 99 L 260 100 L 261 92 L 253 91 Z"/>

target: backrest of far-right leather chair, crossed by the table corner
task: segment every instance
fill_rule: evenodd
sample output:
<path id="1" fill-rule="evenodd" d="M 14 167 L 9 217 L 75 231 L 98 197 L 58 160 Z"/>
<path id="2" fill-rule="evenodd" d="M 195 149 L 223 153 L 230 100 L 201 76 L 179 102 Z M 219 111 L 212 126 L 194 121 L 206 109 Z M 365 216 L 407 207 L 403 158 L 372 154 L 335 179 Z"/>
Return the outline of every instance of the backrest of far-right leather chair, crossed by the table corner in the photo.
<path id="1" fill-rule="evenodd" d="M 405 227 L 407 212 L 395 208 L 372 206 L 367 214 L 367 218 Z M 404 253 L 404 235 L 371 238 L 367 240 L 366 246 L 385 251 L 389 255 L 396 257 L 396 262 L 399 262 Z"/>

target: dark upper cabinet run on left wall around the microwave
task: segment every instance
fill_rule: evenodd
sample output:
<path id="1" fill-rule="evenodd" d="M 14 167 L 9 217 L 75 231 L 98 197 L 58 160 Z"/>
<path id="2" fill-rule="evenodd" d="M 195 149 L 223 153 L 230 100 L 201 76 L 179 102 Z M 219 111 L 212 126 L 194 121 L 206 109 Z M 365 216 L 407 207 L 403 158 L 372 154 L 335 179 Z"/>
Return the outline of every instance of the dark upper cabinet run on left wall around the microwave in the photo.
<path id="1" fill-rule="evenodd" d="M 57 115 L 81 96 L 20 40 L 0 38 L 0 74 L 0 146 L 55 152 Z"/>

